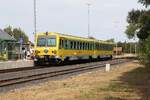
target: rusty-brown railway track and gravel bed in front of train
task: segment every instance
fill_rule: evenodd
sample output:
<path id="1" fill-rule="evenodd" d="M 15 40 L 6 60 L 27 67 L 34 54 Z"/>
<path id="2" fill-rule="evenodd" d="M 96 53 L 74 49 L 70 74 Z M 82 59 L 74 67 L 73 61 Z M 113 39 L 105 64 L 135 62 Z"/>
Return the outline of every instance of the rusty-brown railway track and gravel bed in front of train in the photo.
<path id="1" fill-rule="evenodd" d="M 56 77 L 60 75 L 75 73 L 75 72 L 96 69 L 96 68 L 104 67 L 107 63 L 111 65 L 116 65 L 116 64 L 129 62 L 129 61 L 131 61 L 131 59 L 114 59 L 111 61 L 96 62 L 91 64 L 71 65 L 70 67 L 61 66 L 55 69 L 41 68 L 41 69 L 30 69 L 30 70 L 29 69 L 17 70 L 16 72 L 8 71 L 7 73 L 6 72 L 0 73 L 0 88 L 31 82 L 31 81 L 36 81 L 36 80 L 42 80 L 50 77 Z"/>

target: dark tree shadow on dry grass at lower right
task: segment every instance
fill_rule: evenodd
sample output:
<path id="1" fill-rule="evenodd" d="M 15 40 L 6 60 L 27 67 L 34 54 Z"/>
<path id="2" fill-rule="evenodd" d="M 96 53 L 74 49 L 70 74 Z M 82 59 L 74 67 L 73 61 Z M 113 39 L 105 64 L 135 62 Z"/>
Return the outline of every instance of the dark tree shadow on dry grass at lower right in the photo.
<path id="1" fill-rule="evenodd" d="M 137 92 L 142 100 L 150 100 L 150 67 L 141 66 L 126 72 L 120 77 L 120 82 Z"/>

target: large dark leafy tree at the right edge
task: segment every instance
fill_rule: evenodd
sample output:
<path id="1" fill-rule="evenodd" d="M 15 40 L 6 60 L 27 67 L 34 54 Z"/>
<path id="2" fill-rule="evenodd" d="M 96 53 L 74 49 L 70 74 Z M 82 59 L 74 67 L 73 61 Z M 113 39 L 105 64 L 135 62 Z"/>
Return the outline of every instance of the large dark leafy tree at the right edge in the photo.
<path id="1" fill-rule="evenodd" d="M 138 0 L 147 9 L 132 10 L 128 13 L 127 22 L 129 25 L 126 29 L 128 38 L 137 35 L 139 38 L 140 58 L 146 65 L 150 64 L 150 0 Z"/>

